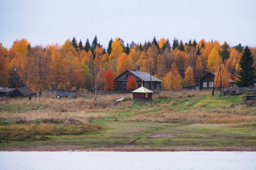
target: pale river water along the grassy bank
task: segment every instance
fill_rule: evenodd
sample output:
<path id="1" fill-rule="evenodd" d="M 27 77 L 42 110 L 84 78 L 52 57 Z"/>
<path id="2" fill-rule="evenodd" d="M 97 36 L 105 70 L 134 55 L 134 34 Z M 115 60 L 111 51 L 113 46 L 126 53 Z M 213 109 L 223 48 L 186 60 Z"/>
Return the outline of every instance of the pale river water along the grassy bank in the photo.
<path id="1" fill-rule="evenodd" d="M 256 152 L 1 151 L 0 169 L 255 170 Z"/>

